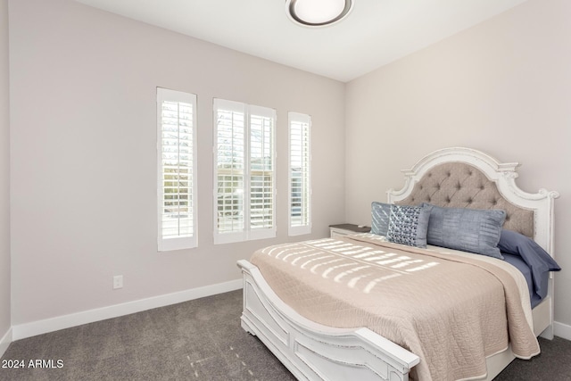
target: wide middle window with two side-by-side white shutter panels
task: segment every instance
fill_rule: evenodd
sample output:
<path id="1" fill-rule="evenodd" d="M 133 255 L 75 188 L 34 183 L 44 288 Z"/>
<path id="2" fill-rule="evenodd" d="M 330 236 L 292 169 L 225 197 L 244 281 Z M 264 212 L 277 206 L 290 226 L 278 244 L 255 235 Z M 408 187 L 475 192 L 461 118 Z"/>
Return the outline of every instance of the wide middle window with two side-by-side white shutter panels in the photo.
<path id="1" fill-rule="evenodd" d="M 276 111 L 214 99 L 214 123 L 214 243 L 276 236 Z"/>

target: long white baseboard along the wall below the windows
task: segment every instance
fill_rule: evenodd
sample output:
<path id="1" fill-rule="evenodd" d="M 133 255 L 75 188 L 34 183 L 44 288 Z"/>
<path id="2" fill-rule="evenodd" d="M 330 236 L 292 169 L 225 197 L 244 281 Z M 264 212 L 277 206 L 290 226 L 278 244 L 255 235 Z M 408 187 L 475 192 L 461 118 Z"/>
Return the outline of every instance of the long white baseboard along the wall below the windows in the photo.
<path id="1" fill-rule="evenodd" d="M 151 310 L 179 302 L 187 302 L 193 299 L 226 293 L 242 288 L 243 280 L 236 279 L 217 285 L 197 287 L 178 293 L 164 294 L 152 298 L 141 299 L 133 302 L 115 304 L 109 307 L 95 310 L 81 311 L 56 318 L 37 320 L 31 323 L 12 326 L 12 340 L 20 340 L 27 337 L 42 335 L 48 332 L 58 331 L 64 328 L 81 326 L 95 321 L 117 318 L 131 313 Z"/>

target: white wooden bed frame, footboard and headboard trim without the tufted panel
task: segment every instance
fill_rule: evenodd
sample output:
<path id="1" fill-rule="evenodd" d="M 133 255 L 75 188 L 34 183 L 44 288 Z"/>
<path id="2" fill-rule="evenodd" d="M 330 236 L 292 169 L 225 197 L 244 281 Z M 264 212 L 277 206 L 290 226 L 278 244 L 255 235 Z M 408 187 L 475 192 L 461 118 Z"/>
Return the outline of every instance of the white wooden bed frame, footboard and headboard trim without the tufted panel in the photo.
<path id="1" fill-rule="evenodd" d="M 398 203 L 435 165 L 448 162 L 471 164 L 496 183 L 510 203 L 534 211 L 534 240 L 553 255 L 553 200 L 557 192 L 540 189 L 528 194 L 519 189 L 517 162 L 501 163 L 468 148 L 446 148 L 426 155 L 412 169 L 403 170 L 405 185 L 389 190 L 388 202 Z M 242 327 L 257 335 L 294 377 L 300 380 L 408 380 L 419 358 L 366 327 L 326 327 L 303 318 L 282 302 L 249 261 L 238 261 L 244 275 Z M 553 338 L 553 279 L 547 297 L 534 308 L 535 335 Z M 487 359 L 487 380 L 497 376 L 514 360 L 510 349 Z"/>

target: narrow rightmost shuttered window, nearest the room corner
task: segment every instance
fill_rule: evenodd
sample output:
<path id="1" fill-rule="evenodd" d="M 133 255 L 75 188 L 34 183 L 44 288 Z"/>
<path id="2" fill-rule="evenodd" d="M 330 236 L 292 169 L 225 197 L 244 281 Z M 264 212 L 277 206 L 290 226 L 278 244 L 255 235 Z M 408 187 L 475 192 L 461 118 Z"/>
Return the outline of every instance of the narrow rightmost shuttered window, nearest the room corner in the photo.
<path id="1" fill-rule="evenodd" d="M 311 117 L 289 112 L 289 235 L 311 232 Z"/>

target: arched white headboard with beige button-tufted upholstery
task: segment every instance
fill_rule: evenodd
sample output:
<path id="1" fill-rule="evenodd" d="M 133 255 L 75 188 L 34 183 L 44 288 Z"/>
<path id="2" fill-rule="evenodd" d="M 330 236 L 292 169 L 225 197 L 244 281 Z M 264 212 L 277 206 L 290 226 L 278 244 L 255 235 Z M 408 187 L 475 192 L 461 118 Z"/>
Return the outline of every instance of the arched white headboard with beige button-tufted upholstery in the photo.
<path id="1" fill-rule="evenodd" d="M 403 170 L 405 186 L 387 192 L 389 203 L 506 211 L 504 228 L 530 236 L 552 253 L 553 199 L 557 192 L 519 189 L 517 162 L 501 163 L 469 148 L 445 148 Z"/>

